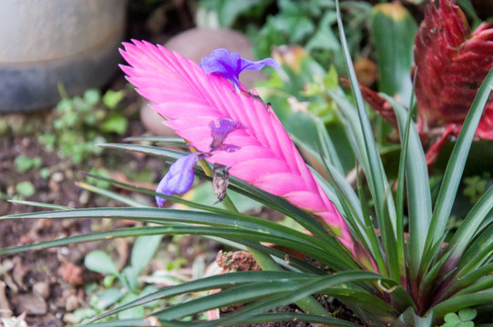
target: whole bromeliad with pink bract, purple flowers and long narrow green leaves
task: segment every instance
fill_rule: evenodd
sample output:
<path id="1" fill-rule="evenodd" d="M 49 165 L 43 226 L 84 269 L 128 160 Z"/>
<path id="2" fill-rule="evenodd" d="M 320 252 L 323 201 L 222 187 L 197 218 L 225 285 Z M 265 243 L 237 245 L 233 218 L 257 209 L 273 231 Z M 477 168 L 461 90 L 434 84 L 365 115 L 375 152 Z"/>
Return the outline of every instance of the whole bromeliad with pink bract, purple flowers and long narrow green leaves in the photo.
<path id="1" fill-rule="evenodd" d="M 427 163 L 412 113 L 390 97 L 386 99 L 396 113 L 402 151 L 397 181 L 388 181 L 357 87 L 340 15 L 338 24 L 356 105 L 341 91 L 327 92 L 338 104 L 347 138 L 364 173 L 358 178 L 357 192 L 341 173 L 334 151 L 336 141 L 330 139 L 322 123 L 313 118 L 319 127 L 317 155 L 326 167 L 328 182 L 303 161 L 270 105 L 255 90 L 249 91 L 238 82 L 237 76 L 244 69 L 276 67 L 272 59 L 250 62 L 223 49 L 197 65 L 161 45 L 133 41 L 121 51 L 129 64 L 122 69 L 129 82 L 136 85 L 136 91 L 154 103 L 153 108 L 166 118 L 165 123 L 183 137 L 186 142 L 181 145 L 191 153 L 139 144 L 106 144 L 106 147 L 176 161 L 152 194 L 159 206 L 171 200 L 191 209 L 148 208 L 121 199 L 136 207 L 62 208 L 5 216 L 1 219 L 104 217 L 153 223 L 153 226 L 72 236 L 4 249 L 0 253 L 114 237 L 198 234 L 249 251 L 262 268 L 262 271 L 230 272 L 161 289 L 87 322 L 95 325 L 146 325 L 149 322 L 96 321 L 156 299 L 213 289 L 222 291 L 163 308 L 152 315 L 166 326 L 234 326 L 279 321 L 356 326 L 354 322 L 333 317 L 316 300 L 333 297 L 367 325 L 432 326 L 443 322 L 447 313 L 466 308 L 476 309 L 478 316 L 484 317 L 484 311 L 493 302 L 490 213 L 493 188 L 480 198 L 455 233 L 448 234 L 447 223 L 470 144 L 488 103 L 493 72 L 478 90 L 458 135 L 438 199 L 432 203 Z M 180 145 L 176 140 L 160 141 Z M 195 174 L 212 180 L 224 209 L 172 195 L 186 192 Z M 364 181 L 370 199 L 361 192 Z M 307 233 L 238 213 L 226 190 L 287 215 Z M 368 200 L 373 203 L 371 210 L 367 207 Z M 295 249 L 310 260 L 290 256 L 266 243 Z M 238 303 L 245 305 L 218 321 L 184 321 L 196 319 L 199 312 Z M 269 312 L 289 303 L 296 303 L 302 312 Z"/>

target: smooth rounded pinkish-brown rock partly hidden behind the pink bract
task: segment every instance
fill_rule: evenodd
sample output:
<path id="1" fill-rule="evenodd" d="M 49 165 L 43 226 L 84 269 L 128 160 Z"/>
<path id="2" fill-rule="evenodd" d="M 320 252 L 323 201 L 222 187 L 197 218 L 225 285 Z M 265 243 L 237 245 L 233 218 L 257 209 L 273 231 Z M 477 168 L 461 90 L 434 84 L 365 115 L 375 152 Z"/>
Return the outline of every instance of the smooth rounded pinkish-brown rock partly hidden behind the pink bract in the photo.
<path id="1" fill-rule="evenodd" d="M 166 42 L 165 46 L 167 49 L 174 50 L 197 64 L 203 56 L 209 55 L 216 48 L 226 48 L 249 60 L 256 59 L 252 52 L 252 44 L 247 36 L 228 29 L 192 28 L 172 37 Z M 240 74 L 241 83 L 245 84 L 248 89 L 263 78 L 264 74 L 261 72 L 245 71 Z M 163 124 L 163 118 L 156 114 L 148 104 L 144 104 L 141 107 L 140 119 L 151 134 L 158 136 L 176 135 L 175 132 Z"/>

